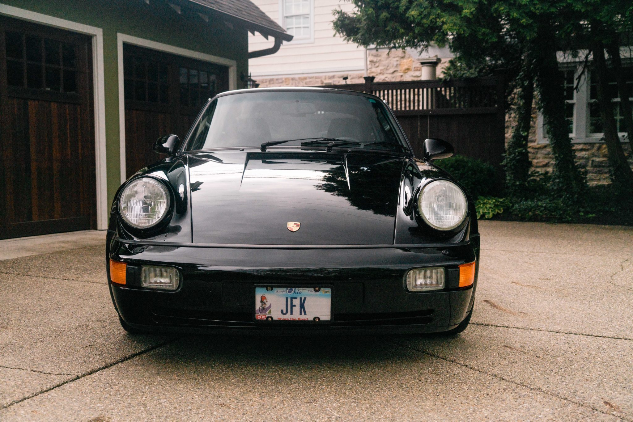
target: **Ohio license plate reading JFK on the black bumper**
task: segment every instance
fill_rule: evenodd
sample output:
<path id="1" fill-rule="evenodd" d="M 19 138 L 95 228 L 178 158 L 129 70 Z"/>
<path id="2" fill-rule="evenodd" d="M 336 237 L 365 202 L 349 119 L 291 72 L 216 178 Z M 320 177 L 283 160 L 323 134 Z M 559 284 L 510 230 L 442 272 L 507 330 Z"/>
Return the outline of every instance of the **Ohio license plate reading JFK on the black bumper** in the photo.
<path id="1" fill-rule="evenodd" d="M 255 287 L 255 320 L 329 321 L 330 287 Z"/>

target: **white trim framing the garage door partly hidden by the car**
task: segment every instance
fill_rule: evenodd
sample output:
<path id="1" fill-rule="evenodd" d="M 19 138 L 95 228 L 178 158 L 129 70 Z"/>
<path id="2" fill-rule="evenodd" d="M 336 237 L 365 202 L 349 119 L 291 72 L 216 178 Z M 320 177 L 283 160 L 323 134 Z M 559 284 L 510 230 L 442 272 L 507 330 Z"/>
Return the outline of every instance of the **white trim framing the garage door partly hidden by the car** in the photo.
<path id="1" fill-rule="evenodd" d="M 200 53 L 199 51 L 188 50 L 181 47 L 170 46 L 162 42 L 134 37 L 132 35 L 116 33 L 116 52 L 118 61 L 118 89 L 119 89 L 119 154 L 120 154 L 120 177 L 121 183 L 127 180 L 125 176 L 125 92 L 123 90 L 123 42 L 134 46 L 145 47 L 165 53 L 176 54 L 177 56 L 189 57 L 201 61 L 208 61 L 216 65 L 229 67 L 229 90 L 237 89 L 237 62 L 211 54 Z"/>

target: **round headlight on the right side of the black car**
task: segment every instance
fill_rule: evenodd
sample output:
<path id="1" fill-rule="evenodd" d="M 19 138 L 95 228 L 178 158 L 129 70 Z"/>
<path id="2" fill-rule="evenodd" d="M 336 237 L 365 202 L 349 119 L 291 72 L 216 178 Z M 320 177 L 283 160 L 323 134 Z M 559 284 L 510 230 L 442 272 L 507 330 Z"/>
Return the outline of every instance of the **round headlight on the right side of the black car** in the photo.
<path id="1" fill-rule="evenodd" d="M 452 230 L 466 218 L 468 201 L 455 183 L 434 180 L 422 188 L 418 196 L 418 211 L 430 227 Z"/>

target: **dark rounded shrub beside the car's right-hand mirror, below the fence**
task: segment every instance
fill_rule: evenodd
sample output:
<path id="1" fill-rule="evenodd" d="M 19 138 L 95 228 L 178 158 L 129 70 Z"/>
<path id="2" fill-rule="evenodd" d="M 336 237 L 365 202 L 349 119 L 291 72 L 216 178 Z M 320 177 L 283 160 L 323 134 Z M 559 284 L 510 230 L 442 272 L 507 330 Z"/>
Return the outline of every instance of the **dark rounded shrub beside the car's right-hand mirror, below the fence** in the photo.
<path id="1" fill-rule="evenodd" d="M 480 159 L 456 155 L 433 164 L 448 171 L 473 199 L 490 194 L 498 182 L 494 166 Z"/>

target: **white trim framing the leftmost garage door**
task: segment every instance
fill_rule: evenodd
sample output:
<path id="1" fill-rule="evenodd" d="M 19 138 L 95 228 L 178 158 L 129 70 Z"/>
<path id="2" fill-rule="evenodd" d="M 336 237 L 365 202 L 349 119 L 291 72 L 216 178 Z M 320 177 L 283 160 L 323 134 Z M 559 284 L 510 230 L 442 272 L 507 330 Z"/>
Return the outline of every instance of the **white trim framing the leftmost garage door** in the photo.
<path id="1" fill-rule="evenodd" d="M 96 171 L 97 229 L 108 228 L 108 175 L 106 173 L 106 103 L 103 78 L 103 30 L 83 23 L 43 15 L 0 3 L 0 15 L 61 28 L 92 37 L 92 85 L 94 87 L 94 152 Z"/>

